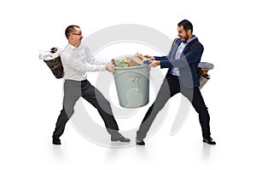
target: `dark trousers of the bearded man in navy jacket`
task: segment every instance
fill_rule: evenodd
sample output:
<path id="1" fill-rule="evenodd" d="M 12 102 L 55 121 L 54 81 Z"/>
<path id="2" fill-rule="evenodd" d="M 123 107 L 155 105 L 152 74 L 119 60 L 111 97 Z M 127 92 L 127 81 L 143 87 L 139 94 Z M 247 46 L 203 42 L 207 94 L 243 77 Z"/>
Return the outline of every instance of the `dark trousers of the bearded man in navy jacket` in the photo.
<path id="1" fill-rule="evenodd" d="M 154 104 L 149 107 L 143 118 L 143 122 L 137 131 L 137 139 L 146 138 L 148 130 L 154 122 L 155 116 L 157 116 L 159 111 L 166 105 L 168 99 L 178 93 L 183 94 L 187 99 L 189 99 L 190 103 L 195 108 L 195 111 L 199 114 L 199 122 L 201 124 L 203 138 L 207 138 L 211 135 L 209 125 L 210 116 L 199 88 L 184 88 L 180 84 L 178 77 L 168 75 L 161 85 Z"/>

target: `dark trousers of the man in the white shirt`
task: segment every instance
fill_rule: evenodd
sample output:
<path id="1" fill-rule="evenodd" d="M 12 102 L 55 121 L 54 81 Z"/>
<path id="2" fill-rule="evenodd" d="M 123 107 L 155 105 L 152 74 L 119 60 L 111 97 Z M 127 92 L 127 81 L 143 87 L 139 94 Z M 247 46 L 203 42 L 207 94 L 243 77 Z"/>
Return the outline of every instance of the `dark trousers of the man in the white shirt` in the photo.
<path id="1" fill-rule="evenodd" d="M 100 116 L 102 116 L 108 133 L 113 133 L 119 130 L 118 124 L 113 117 L 111 106 L 99 90 L 92 86 L 88 80 L 65 80 L 63 109 L 55 124 L 53 137 L 59 138 L 62 135 L 67 121 L 73 116 L 73 107 L 80 97 L 86 99 L 97 109 Z"/>

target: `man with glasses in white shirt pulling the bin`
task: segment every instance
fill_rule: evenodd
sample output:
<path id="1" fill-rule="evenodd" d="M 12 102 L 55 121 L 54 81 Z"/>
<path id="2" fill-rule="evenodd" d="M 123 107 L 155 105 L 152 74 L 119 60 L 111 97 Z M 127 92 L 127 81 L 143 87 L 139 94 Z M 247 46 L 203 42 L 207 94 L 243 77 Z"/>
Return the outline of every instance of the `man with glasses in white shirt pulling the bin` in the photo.
<path id="1" fill-rule="evenodd" d="M 130 142 L 130 139 L 126 139 L 118 132 L 119 127 L 108 100 L 87 80 L 87 71 L 113 72 L 113 68 L 96 59 L 90 54 L 90 49 L 81 43 L 83 36 L 79 26 L 67 26 L 65 35 L 68 43 L 61 52 L 65 79 L 63 109 L 55 124 L 53 144 L 61 144 L 60 137 L 67 121 L 73 116 L 73 106 L 80 97 L 90 102 L 102 116 L 107 131 L 111 135 L 111 141 Z"/>

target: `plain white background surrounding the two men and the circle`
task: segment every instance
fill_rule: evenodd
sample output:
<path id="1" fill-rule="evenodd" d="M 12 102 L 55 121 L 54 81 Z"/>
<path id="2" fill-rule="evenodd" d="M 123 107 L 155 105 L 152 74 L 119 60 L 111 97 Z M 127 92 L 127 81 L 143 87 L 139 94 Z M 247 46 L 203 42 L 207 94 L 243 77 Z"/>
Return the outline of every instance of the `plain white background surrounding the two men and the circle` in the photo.
<path id="1" fill-rule="evenodd" d="M 249 0 L 5 1 L 0 10 L 0 168 L 255 168 L 253 16 Z M 183 128 L 169 135 L 175 98 L 166 122 L 145 147 L 105 148 L 84 139 L 70 123 L 61 146 L 51 144 L 61 110 L 62 80 L 38 59 L 39 48 L 64 48 L 64 30 L 72 24 L 81 26 L 84 37 L 108 26 L 139 24 L 173 38 L 183 19 L 193 23 L 194 34 L 205 47 L 202 61 L 215 65 L 202 94 L 217 145 L 202 144 L 193 109 Z"/>

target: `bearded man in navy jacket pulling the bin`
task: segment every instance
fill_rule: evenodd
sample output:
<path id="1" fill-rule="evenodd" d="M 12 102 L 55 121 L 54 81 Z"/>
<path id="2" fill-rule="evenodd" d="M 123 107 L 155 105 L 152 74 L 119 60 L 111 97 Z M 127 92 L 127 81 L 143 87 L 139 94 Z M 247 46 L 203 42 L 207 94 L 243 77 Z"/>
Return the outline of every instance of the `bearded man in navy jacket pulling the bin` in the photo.
<path id="1" fill-rule="evenodd" d="M 189 99 L 195 111 L 198 112 L 202 141 L 207 144 L 216 144 L 211 138 L 210 116 L 201 95 L 199 75 L 197 73 L 197 65 L 201 61 L 201 55 L 204 50 L 203 45 L 193 35 L 193 25 L 189 20 L 182 20 L 177 24 L 177 37 L 172 43 L 172 48 L 168 55 L 160 57 L 144 56 L 152 60 L 149 66 L 160 65 L 161 69 L 169 69 L 154 104 L 149 107 L 137 131 L 136 142 L 138 145 L 145 144 L 143 139 L 146 138 L 155 116 L 166 105 L 168 99 L 178 93 Z"/>

